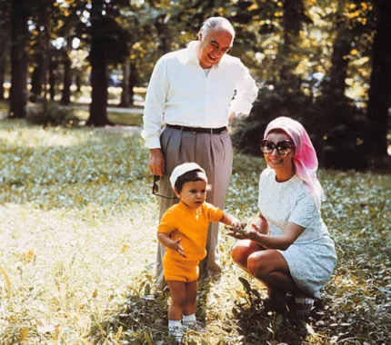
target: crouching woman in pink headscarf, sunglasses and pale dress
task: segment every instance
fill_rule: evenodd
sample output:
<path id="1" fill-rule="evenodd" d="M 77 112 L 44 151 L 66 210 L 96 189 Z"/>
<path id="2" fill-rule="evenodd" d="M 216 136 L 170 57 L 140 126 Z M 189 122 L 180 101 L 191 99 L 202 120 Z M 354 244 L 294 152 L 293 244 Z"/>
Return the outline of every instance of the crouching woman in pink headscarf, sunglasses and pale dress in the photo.
<path id="1" fill-rule="evenodd" d="M 261 151 L 268 167 L 259 180 L 259 217 L 245 233 L 229 232 L 242 240 L 232 257 L 266 284 L 271 301 L 291 292 L 296 311 L 306 313 L 336 266 L 320 212 L 316 152 L 302 124 L 288 117 L 267 125 Z"/>

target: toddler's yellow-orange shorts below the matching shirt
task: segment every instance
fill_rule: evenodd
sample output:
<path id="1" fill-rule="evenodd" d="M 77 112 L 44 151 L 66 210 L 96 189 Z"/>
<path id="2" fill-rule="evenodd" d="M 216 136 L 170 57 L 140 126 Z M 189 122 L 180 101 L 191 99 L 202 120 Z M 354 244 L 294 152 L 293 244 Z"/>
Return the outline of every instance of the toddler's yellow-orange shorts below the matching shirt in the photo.
<path id="1" fill-rule="evenodd" d="M 165 281 L 196 281 L 199 276 L 199 261 L 175 260 L 165 255 L 163 268 Z"/>

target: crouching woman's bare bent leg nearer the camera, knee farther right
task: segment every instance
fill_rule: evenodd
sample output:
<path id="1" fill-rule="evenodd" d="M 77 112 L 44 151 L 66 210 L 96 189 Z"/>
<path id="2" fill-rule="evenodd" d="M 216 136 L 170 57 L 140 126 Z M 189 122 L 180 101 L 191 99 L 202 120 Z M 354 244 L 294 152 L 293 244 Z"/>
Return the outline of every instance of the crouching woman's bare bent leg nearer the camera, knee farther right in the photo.
<path id="1" fill-rule="evenodd" d="M 274 249 L 256 251 L 247 258 L 247 271 L 263 281 L 269 291 L 301 292 L 293 280 L 284 256 Z"/>

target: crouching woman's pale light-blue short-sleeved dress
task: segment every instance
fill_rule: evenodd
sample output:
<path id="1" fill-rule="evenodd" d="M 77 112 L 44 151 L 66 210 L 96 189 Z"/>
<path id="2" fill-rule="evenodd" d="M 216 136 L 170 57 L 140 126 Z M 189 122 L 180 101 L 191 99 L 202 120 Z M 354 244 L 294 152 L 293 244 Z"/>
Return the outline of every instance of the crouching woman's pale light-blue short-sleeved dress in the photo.
<path id="1" fill-rule="evenodd" d="M 282 234 L 288 222 L 306 228 L 286 251 L 279 252 L 296 286 L 319 298 L 320 289 L 336 267 L 336 249 L 309 187 L 297 175 L 276 182 L 275 171 L 267 168 L 259 179 L 258 206 L 272 236 Z"/>

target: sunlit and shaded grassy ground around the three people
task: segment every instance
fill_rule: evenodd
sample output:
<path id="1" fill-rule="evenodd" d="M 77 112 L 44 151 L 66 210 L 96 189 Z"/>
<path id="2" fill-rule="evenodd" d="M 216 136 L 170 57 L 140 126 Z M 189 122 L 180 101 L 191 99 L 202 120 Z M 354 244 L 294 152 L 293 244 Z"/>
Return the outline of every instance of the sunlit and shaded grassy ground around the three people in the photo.
<path id="1" fill-rule="evenodd" d="M 158 204 L 142 140 L 0 121 L 0 343 L 166 344 L 154 286 Z M 236 154 L 226 210 L 256 214 L 263 160 Z M 391 176 L 320 171 L 338 264 L 307 318 L 266 312 L 265 290 L 229 257 L 199 289 L 205 335 L 188 344 L 381 344 L 391 332 Z M 241 278 L 239 280 L 238 278 Z"/>

